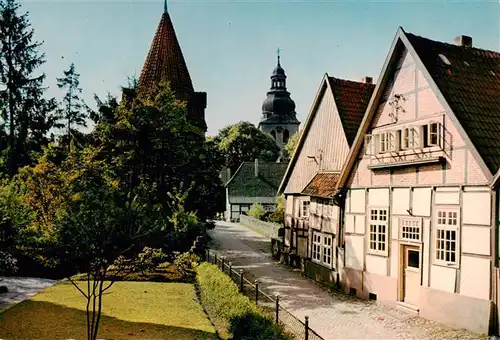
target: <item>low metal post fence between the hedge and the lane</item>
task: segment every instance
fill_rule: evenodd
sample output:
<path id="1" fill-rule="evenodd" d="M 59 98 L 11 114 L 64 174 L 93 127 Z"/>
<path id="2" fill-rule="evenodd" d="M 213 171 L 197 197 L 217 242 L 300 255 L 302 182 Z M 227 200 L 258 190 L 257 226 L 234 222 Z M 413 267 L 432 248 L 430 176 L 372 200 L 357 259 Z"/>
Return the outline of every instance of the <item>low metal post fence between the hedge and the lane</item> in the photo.
<path id="1" fill-rule="evenodd" d="M 278 295 L 271 297 L 262 291 L 258 280 L 253 283 L 247 280 L 243 269 L 234 269 L 231 262 L 227 262 L 224 257 L 210 249 L 206 251 L 205 260 L 215 264 L 224 274 L 228 275 L 238 285 L 242 294 L 248 296 L 264 312 L 272 316 L 274 321 L 281 325 L 295 340 L 324 340 L 309 327 L 308 316 L 305 317 L 304 321 L 297 319 L 281 306 Z"/>

